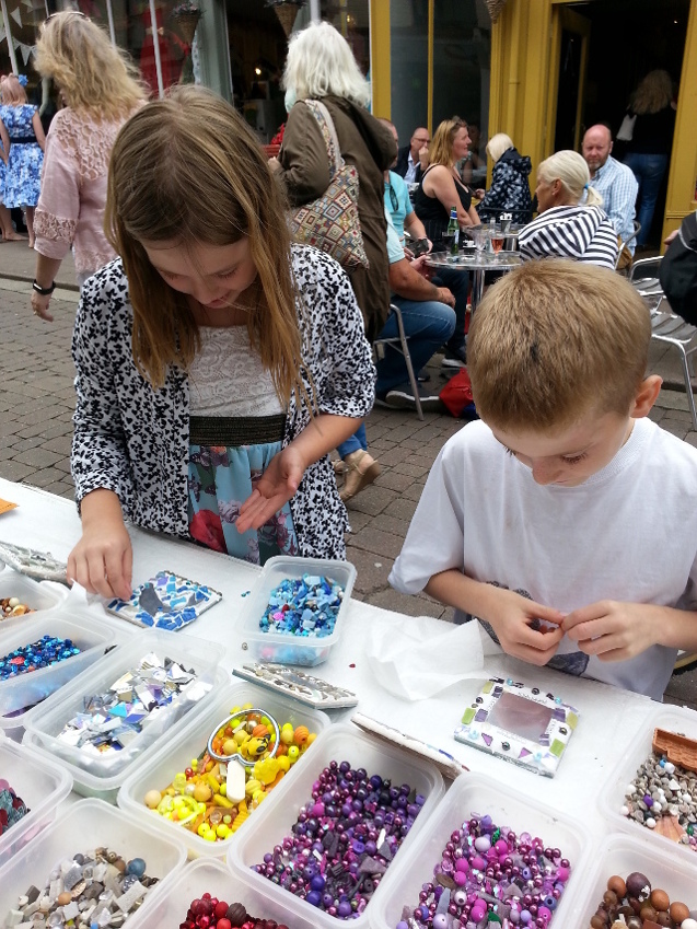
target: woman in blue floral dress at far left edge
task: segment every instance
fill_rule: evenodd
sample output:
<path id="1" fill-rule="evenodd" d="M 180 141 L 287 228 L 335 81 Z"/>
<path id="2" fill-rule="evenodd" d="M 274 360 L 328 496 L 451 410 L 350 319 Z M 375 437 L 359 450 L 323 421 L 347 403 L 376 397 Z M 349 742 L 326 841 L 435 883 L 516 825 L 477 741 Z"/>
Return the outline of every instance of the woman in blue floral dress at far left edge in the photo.
<path id="1" fill-rule="evenodd" d="M 34 247 L 34 207 L 42 189 L 42 166 L 46 138 L 38 107 L 26 101 L 26 93 L 16 74 L 0 82 L 2 105 L 0 119 L 10 137 L 10 159 L 4 172 L 2 200 L 8 209 L 26 208 L 30 248 Z"/>

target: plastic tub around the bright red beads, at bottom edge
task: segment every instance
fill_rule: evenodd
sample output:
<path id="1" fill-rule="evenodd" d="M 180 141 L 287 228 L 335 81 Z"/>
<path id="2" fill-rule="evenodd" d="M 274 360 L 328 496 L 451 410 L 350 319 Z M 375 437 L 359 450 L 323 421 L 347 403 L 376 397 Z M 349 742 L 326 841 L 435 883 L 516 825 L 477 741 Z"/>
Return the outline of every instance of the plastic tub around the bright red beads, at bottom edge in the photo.
<path id="1" fill-rule="evenodd" d="M 289 929 L 315 929 L 314 921 L 303 919 L 277 899 L 249 887 L 216 858 L 199 858 L 167 878 L 156 897 L 146 897 L 146 903 L 128 924 L 129 929 L 179 926 L 186 919 L 191 901 L 206 893 L 228 904 L 241 903 L 251 916 L 274 919 Z"/>

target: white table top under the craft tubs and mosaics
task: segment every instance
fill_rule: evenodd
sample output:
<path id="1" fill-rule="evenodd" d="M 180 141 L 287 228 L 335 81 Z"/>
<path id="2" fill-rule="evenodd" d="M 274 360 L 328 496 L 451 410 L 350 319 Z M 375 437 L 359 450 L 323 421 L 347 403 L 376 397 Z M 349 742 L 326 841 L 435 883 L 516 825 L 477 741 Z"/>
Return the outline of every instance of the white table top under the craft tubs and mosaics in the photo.
<path id="1" fill-rule="evenodd" d="M 80 522 L 71 501 L 2 479 L 0 497 L 19 503 L 18 509 L 0 516 L 0 539 L 31 545 L 57 558 L 67 558 L 80 534 Z M 241 612 L 245 602 L 243 594 L 253 588 L 259 569 L 140 530 L 132 530 L 131 537 L 133 587 L 156 571 L 169 569 L 208 583 L 223 594 L 219 604 L 185 631 L 171 635 L 191 635 L 208 640 L 211 649 L 220 648 L 228 669 L 248 662 L 249 654 L 242 648 Z M 93 608 L 103 615 L 101 606 Z M 124 636 L 138 635 L 136 627 L 123 620 L 115 622 L 123 624 Z M 586 828 L 602 839 L 607 824 L 596 806 L 597 793 L 608 773 L 643 731 L 644 720 L 655 704 L 647 697 L 604 684 L 534 669 L 507 655 L 486 659 L 481 678 L 491 674 L 512 677 L 554 693 L 580 712 L 579 725 L 556 777 L 538 777 L 454 741 L 455 725 L 476 696 L 480 680 L 461 682 L 428 700 L 416 702 L 394 697 L 375 680 L 364 651 L 371 630 L 391 626 L 398 637 L 399 631 L 414 622 L 411 617 L 351 601 L 339 643 L 329 660 L 311 673 L 357 693 L 360 697 L 358 711 L 449 752 L 473 771 L 504 781 L 520 792 L 582 820 Z M 350 717 L 351 712 L 336 711 L 334 717 Z"/>

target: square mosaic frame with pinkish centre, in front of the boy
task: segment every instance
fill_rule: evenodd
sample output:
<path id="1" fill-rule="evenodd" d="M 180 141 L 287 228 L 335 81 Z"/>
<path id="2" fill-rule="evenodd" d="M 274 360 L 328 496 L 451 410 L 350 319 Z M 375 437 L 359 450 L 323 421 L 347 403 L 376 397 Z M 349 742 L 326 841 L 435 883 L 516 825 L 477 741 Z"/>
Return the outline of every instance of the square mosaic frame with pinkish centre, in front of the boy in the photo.
<path id="1" fill-rule="evenodd" d="M 455 740 L 554 777 L 579 721 L 561 697 L 502 677 L 485 682 L 465 709 Z"/>

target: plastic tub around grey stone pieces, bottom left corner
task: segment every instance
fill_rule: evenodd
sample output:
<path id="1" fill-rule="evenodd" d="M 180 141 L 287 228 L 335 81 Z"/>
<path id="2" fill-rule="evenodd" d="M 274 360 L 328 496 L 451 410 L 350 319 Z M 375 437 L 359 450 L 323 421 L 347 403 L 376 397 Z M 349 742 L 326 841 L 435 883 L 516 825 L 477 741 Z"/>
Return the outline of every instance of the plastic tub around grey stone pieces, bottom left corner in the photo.
<path id="1" fill-rule="evenodd" d="M 126 861 L 143 858 L 150 876 L 175 879 L 186 860 L 181 843 L 153 835 L 135 816 L 115 810 L 101 800 L 80 800 L 66 809 L 47 826 L 39 841 L 33 841 L 0 868 L 0 926 L 5 925 L 18 897 L 34 884 L 43 887 L 48 874 L 66 856 L 104 846 L 121 855 Z M 160 895 L 155 884 L 148 894 Z M 130 919 L 124 924 L 130 926 Z"/>

